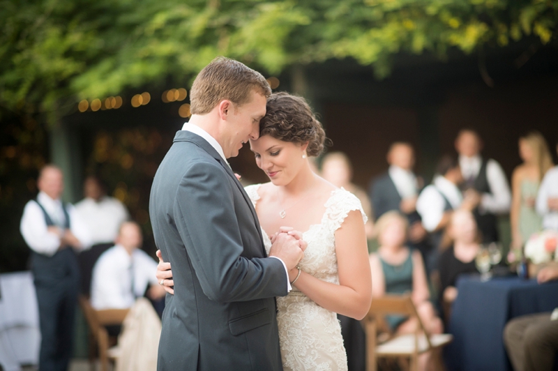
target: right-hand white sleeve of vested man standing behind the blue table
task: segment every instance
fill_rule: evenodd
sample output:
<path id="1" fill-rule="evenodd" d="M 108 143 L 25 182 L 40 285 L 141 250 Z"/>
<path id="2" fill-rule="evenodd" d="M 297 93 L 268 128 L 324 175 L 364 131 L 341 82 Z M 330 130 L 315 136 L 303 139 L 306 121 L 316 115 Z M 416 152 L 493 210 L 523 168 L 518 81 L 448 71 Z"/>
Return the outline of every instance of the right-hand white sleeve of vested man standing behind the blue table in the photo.
<path id="1" fill-rule="evenodd" d="M 480 211 L 502 214 L 510 211 L 511 192 L 504 169 L 495 160 L 488 160 L 486 177 L 492 194 L 484 193 L 481 198 Z"/>

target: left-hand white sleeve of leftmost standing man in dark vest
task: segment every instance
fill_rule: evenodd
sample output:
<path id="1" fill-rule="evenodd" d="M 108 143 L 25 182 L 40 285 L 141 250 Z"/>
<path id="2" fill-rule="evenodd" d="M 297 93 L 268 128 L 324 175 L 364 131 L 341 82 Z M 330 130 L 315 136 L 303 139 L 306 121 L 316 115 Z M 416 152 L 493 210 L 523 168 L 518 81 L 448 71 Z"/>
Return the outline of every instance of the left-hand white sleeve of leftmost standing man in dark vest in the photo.
<path id="1" fill-rule="evenodd" d="M 29 248 L 39 254 L 52 256 L 60 247 L 59 237 L 48 232 L 45 215 L 34 201 L 29 201 L 25 205 L 20 222 L 20 232 Z"/>

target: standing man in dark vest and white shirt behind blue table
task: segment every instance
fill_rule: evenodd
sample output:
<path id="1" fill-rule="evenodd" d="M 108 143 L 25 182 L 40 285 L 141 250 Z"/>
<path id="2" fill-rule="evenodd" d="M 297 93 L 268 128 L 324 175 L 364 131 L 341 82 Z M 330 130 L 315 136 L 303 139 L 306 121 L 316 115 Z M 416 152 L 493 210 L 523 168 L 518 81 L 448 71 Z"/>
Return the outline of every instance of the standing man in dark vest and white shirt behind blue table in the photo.
<path id="1" fill-rule="evenodd" d="M 497 215 L 510 211 L 511 192 L 502 166 L 481 156 L 483 142 L 474 130 L 463 129 L 455 139 L 465 183 L 462 189 L 477 192 L 481 201 L 474 209 L 483 242 L 499 241 Z"/>

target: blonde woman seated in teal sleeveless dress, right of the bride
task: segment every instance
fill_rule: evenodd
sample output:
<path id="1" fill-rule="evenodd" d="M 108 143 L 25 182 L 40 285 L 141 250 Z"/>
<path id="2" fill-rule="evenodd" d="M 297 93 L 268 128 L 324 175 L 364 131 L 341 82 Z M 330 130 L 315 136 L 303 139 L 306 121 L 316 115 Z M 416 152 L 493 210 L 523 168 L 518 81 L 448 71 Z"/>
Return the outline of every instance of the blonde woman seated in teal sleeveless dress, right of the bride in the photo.
<path id="1" fill-rule="evenodd" d="M 408 227 L 407 218 L 398 211 L 389 211 L 377 220 L 380 247 L 370 255 L 372 300 L 385 294 L 410 294 L 425 330 L 442 333 L 442 321 L 429 300 L 421 254 L 405 246 Z M 416 319 L 402 316 L 386 316 L 386 322 L 395 333 L 414 333 L 418 326 Z"/>

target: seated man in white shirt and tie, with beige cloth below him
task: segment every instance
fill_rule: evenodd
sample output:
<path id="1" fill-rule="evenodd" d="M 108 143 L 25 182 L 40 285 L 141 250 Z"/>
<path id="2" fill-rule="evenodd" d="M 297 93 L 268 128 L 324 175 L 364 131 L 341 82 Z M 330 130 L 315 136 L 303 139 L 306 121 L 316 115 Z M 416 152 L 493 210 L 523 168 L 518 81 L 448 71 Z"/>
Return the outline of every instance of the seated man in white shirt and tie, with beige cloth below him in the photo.
<path id="1" fill-rule="evenodd" d="M 165 289 L 155 277 L 156 262 L 140 249 L 142 240 L 140 225 L 123 222 L 116 245 L 103 252 L 93 268 L 91 306 L 130 308 L 122 326 L 107 326 L 110 335 L 119 335 L 116 371 L 155 370 L 157 365 L 161 321 L 151 304 L 165 298 Z"/>

